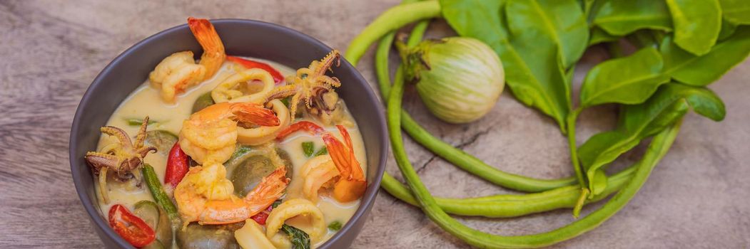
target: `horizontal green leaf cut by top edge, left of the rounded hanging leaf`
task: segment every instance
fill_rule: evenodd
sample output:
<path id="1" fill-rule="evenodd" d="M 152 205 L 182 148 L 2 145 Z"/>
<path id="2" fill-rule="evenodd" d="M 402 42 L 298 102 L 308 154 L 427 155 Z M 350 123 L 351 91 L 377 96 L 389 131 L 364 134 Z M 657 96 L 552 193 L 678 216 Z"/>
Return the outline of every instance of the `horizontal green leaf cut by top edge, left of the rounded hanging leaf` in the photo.
<path id="1" fill-rule="evenodd" d="M 672 30 L 667 4 L 654 0 L 604 0 L 592 24 L 613 35 L 630 34 L 642 28 Z"/>

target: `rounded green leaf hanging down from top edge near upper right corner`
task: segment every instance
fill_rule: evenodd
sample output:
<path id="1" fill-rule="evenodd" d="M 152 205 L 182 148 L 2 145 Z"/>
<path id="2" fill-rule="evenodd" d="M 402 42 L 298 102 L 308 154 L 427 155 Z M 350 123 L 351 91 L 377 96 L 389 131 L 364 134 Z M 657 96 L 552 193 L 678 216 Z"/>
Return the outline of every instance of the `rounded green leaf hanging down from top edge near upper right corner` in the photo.
<path id="1" fill-rule="evenodd" d="M 716 43 L 721 28 L 718 0 L 667 0 L 674 23 L 674 43 L 703 55 Z"/>

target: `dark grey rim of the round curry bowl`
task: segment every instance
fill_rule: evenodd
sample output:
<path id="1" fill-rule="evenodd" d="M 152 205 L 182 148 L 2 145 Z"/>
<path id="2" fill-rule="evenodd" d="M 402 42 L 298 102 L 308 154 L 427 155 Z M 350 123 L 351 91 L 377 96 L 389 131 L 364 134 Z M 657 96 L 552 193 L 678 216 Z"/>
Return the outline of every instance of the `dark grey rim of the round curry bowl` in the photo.
<path id="1" fill-rule="evenodd" d="M 210 19 L 211 23 L 214 25 L 217 24 L 234 24 L 234 25 L 260 25 L 265 26 L 266 28 L 276 29 L 280 32 L 291 34 L 293 36 L 299 37 L 300 39 L 304 40 L 302 44 L 304 46 L 318 46 L 324 49 L 332 50 L 330 46 L 327 46 L 325 43 L 321 42 L 320 40 L 317 40 L 314 37 L 309 36 L 308 34 L 304 34 L 301 31 L 296 31 L 293 28 L 288 28 L 283 25 L 278 25 L 271 22 L 263 22 L 260 20 L 254 20 L 254 19 Z M 172 28 L 167 28 L 163 31 L 159 31 L 156 34 L 151 34 L 150 36 L 146 37 L 143 40 L 140 40 L 138 43 L 135 43 L 133 46 L 130 46 L 128 49 L 125 49 L 123 52 L 121 52 L 117 57 L 115 57 L 112 61 L 110 61 L 109 64 L 107 64 L 104 69 L 101 70 L 100 73 L 95 77 L 95 79 L 92 81 L 91 84 L 89 84 L 89 87 L 86 88 L 86 92 L 83 93 L 83 97 L 81 98 L 79 105 L 76 108 L 76 114 L 74 115 L 73 124 L 71 126 L 71 135 L 69 138 L 69 144 L 68 144 L 68 150 L 69 150 L 69 160 L 71 164 L 71 175 L 73 176 L 73 182 L 76 188 L 76 192 L 78 194 L 78 197 L 82 203 L 82 206 L 84 209 L 86 209 L 86 213 L 89 214 L 89 218 L 91 218 L 91 221 L 95 226 L 97 226 L 103 233 L 105 233 L 110 239 L 113 239 L 115 244 L 120 246 L 121 248 L 133 248 L 130 243 L 126 242 L 124 239 L 122 239 L 121 236 L 119 236 L 115 231 L 109 226 L 108 222 L 104 220 L 104 217 L 98 212 L 97 209 L 95 209 L 95 203 L 92 201 L 92 199 L 89 198 L 89 195 L 87 194 L 87 189 L 84 188 L 82 181 L 82 176 L 80 173 L 74 173 L 77 171 L 77 165 L 80 165 L 80 156 L 75 155 L 76 149 L 78 147 L 77 144 L 77 138 L 74 137 L 74 131 L 83 129 L 83 124 L 80 123 L 80 120 L 82 119 L 82 107 L 81 103 L 85 102 L 87 99 L 92 98 L 93 95 L 93 89 L 97 87 L 100 84 L 105 84 L 103 82 L 104 76 L 108 75 L 113 68 L 118 67 L 118 64 L 125 58 L 126 56 L 130 55 L 133 51 L 136 49 L 139 49 L 141 46 L 145 46 L 147 43 L 153 43 L 160 37 L 163 37 L 167 34 L 171 34 L 173 32 L 181 31 L 184 28 L 188 28 L 187 24 L 181 24 L 176 25 Z M 337 233 L 335 233 L 331 238 L 329 238 L 326 242 L 323 243 L 323 245 L 320 245 L 319 248 L 329 248 L 330 245 L 333 242 L 338 241 L 338 239 L 341 239 L 344 237 L 345 234 L 350 233 L 350 230 L 353 229 L 353 226 L 355 222 L 352 221 L 358 221 L 359 219 L 364 218 L 365 213 L 368 212 L 368 209 L 371 208 L 372 205 L 374 205 L 375 198 L 377 197 L 377 193 L 380 189 L 380 181 L 383 179 L 383 173 L 386 170 L 386 160 L 389 155 L 389 140 L 388 140 L 388 130 L 386 128 L 385 120 L 385 109 L 383 108 L 383 105 L 380 105 L 380 102 L 378 102 L 377 95 L 374 93 L 374 90 L 368 84 L 367 80 L 362 76 L 362 73 L 359 72 L 359 70 L 356 69 L 352 64 L 350 64 L 349 61 L 347 61 L 344 56 L 341 57 L 341 63 L 344 65 L 347 65 L 348 67 L 351 67 L 355 72 L 355 81 L 356 82 L 362 82 L 365 84 L 365 94 L 368 96 L 369 99 L 375 99 L 376 105 L 374 108 L 376 108 L 376 112 L 374 115 L 377 116 L 377 120 L 381 120 L 380 126 L 377 127 L 377 129 L 380 129 L 378 133 L 380 133 L 380 139 L 383 142 L 380 146 L 380 150 L 383 152 L 380 155 L 380 158 L 378 159 L 377 163 L 377 175 L 374 176 L 373 182 L 370 183 L 367 190 L 365 191 L 365 195 L 362 196 L 362 199 L 360 200 L 359 207 L 357 208 L 356 212 L 352 215 L 352 217 L 347 221 L 346 224 L 344 224 L 344 227 L 341 227 L 341 230 L 339 230 Z M 366 221 L 361 221 L 364 222 Z M 359 231 L 358 231 L 359 232 Z"/>

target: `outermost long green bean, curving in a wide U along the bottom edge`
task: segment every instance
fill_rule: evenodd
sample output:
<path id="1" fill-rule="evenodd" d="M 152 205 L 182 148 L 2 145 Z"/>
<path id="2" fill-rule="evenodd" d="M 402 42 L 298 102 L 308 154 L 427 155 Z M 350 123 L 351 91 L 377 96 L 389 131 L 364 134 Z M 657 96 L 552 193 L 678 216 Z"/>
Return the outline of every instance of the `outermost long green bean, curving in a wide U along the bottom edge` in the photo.
<path id="1" fill-rule="evenodd" d="M 680 124 L 678 122 L 675 126 L 655 136 L 648 150 L 643 155 L 643 159 L 638 162 L 637 171 L 631 181 L 612 200 L 604 204 L 601 209 L 565 227 L 560 227 L 547 233 L 527 236 L 497 236 L 473 230 L 451 218 L 446 212 L 443 212 L 443 209 L 440 209 L 437 201 L 419 179 L 416 170 L 414 170 L 409 161 L 401 136 L 401 99 L 403 95 L 403 82 L 395 82 L 388 99 L 388 128 L 396 163 L 401 173 L 407 179 L 407 183 L 419 201 L 420 206 L 422 206 L 422 210 L 428 215 L 428 218 L 443 228 L 443 230 L 478 248 L 538 248 L 572 239 L 598 227 L 598 225 L 618 212 L 619 209 L 622 209 L 634 197 L 643 183 L 646 182 L 653 167 L 669 150 L 679 131 Z"/>

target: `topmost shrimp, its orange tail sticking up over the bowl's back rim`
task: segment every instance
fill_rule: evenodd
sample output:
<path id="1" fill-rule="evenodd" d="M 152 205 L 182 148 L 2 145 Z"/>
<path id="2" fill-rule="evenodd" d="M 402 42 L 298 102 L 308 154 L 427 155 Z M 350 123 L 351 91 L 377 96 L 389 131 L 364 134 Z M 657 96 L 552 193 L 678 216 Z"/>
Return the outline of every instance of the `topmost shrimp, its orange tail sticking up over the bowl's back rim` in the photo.
<path id="1" fill-rule="evenodd" d="M 207 19 L 187 18 L 187 25 L 203 48 L 199 64 L 193 59 L 193 52 L 175 52 L 157 64 L 148 75 L 153 87 L 161 90 L 164 102 L 175 102 L 175 96 L 188 87 L 198 84 L 219 70 L 226 59 L 223 43 L 214 26 Z"/>

